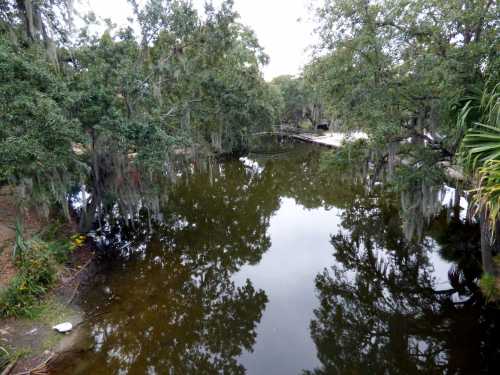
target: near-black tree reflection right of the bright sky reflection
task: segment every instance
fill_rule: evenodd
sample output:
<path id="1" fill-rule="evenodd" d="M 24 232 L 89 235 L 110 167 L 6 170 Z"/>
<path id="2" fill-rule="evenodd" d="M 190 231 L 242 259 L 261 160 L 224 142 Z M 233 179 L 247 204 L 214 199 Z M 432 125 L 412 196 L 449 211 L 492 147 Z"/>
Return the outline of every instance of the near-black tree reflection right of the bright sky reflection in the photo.
<path id="1" fill-rule="evenodd" d="M 495 309 L 474 288 L 479 273 L 461 269 L 456 289 L 437 290 L 429 255 L 435 241 L 448 258 L 476 252 L 454 221 L 423 240 L 406 239 L 398 208 L 382 196 L 360 197 L 332 236 L 335 265 L 316 278 L 320 306 L 311 335 L 321 367 L 314 374 L 476 374 L 496 368 Z M 472 263 L 474 264 L 474 263 Z M 454 270 L 450 279 L 454 277 Z"/>

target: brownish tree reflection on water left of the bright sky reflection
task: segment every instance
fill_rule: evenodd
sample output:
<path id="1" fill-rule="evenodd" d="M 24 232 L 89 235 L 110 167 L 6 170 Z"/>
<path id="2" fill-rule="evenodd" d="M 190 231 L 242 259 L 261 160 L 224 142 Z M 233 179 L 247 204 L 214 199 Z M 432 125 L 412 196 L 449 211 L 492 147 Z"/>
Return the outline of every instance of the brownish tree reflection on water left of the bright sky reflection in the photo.
<path id="1" fill-rule="evenodd" d="M 90 326 L 81 373 L 244 373 L 238 357 L 252 350 L 267 297 L 231 277 L 271 245 L 279 195 L 267 181 L 239 162 L 214 163 L 179 178 L 161 220 L 142 210 L 131 225 L 103 227 L 122 258 L 88 294 L 89 315 L 106 313 Z"/>

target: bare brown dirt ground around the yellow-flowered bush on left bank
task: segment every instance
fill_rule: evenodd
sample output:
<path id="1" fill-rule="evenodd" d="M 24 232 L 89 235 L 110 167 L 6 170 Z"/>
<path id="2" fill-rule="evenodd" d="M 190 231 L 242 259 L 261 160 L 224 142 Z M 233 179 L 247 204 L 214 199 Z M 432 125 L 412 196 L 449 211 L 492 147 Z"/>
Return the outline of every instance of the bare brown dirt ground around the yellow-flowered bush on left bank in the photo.
<path id="1" fill-rule="evenodd" d="M 11 188 L 0 188 L 0 290 L 16 274 L 12 249 L 16 235 L 17 208 L 13 197 Z M 36 213 L 25 212 L 23 216 L 24 235 L 30 237 L 43 228 L 44 221 Z M 72 230 L 72 225 L 69 224 L 68 232 Z M 78 330 L 68 335 L 57 333 L 52 326 L 62 322 L 71 322 L 77 326 L 82 321 L 83 314 L 76 302 L 79 291 L 91 278 L 93 259 L 92 246 L 85 243 L 71 254 L 69 262 L 61 268 L 59 281 L 42 301 L 34 319 L 0 320 L 0 347 L 19 355 L 11 374 L 37 367 L 78 335 Z"/>

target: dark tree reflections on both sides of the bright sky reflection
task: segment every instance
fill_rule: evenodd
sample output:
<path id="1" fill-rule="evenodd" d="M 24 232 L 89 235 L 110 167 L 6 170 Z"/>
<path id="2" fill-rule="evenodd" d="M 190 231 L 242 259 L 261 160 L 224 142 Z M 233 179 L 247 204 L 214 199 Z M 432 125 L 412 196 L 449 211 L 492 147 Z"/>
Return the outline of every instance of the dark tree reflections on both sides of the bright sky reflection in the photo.
<path id="1" fill-rule="evenodd" d="M 335 264 L 316 279 L 311 334 L 321 367 L 312 373 L 470 374 L 498 365 L 497 313 L 475 283 L 477 228 L 446 212 L 431 219 L 441 207 L 432 191 L 419 187 L 402 202 L 378 187 L 367 192 L 359 176 L 322 173 L 309 147 L 247 164 L 189 165 L 160 197 L 139 199 L 138 215 L 101 226 L 107 253 L 111 246 L 122 258 L 110 257 L 118 270 L 88 294 L 89 315 L 96 306 L 104 314 L 89 327 L 93 350 L 71 373 L 244 373 L 238 358 L 254 346 L 267 297 L 232 277 L 270 248 L 283 197 L 342 210 Z M 418 232 L 413 240 L 408 228 Z M 446 290 L 433 276 L 438 247 L 455 264 Z"/>

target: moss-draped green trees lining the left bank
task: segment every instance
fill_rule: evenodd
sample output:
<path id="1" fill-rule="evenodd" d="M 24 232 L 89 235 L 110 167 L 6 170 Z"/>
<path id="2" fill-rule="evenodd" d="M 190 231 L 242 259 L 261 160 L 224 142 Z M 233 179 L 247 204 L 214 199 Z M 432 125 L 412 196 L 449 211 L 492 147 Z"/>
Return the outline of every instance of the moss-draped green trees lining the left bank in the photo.
<path id="1" fill-rule="evenodd" d="M 268 58 L 232 1 L 203 15 L 187 1 L 132 1 L 139 35 L 132 24 L 93 35 L 92 17 L 69 35 L 65 1 L 4 3 L 0 183 L 46 214 L 68 216 L 83 184 L 90 217 L 111 200 L 128 207 L 179 151 L 240 152 L 277 119 L 279 95 L 261 73 Z M 50 19 L 56 38 L 25 24 L 30 16 L 47 29 Z"/>

